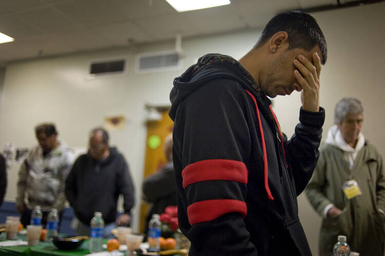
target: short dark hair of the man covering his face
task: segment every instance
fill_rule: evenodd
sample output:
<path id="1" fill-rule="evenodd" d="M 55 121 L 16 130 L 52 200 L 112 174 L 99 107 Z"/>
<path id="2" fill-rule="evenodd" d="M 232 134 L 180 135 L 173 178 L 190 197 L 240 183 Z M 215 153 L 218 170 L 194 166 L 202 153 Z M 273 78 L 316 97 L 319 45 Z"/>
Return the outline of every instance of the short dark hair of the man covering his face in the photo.
<path id="1" fill-rule="evenodd" d="M 322 57 L 320 56 L 321 64 L 326 63 L 328 49 L 325 37 L 316 20 L 310 14 L 300 11 L 278 14 L 267 23 L 255 47 L 262 46 L 279 31 L 285 31 L 288 34 L 288 50 L 299 48 L 310 51 L 318 45 L 322 53 Z"/>

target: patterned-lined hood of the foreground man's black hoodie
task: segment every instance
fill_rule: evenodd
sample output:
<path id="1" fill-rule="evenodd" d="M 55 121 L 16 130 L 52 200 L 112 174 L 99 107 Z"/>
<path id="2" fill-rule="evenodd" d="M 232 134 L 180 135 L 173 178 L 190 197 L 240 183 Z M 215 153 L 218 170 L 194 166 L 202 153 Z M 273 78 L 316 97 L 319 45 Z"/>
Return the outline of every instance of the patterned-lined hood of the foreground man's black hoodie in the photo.
<path id="1" fill-rule="evenodd" d="M 217 78 L 228 78 L 239 82 L 245 89 L 260 92 L 252 75 L 233 57 L 217 53 L 206 54 L 199 58 L 197 64 L 174 79 L 174 87 L 170 92 L 171 109 L 168 113 L 171 120 L 175 120 L 179 104 L 191 92 Z"/>

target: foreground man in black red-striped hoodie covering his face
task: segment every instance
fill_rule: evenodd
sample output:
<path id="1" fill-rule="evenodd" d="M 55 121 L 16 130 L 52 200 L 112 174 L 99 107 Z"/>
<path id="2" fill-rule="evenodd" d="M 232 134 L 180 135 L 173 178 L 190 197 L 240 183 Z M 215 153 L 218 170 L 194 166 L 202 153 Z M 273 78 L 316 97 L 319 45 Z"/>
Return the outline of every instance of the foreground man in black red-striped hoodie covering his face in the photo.
<path id="1" fill-rule="evenodd" d="M 311 255 L 297 196 L 318 159 L 326 42 L 302 12 L 275 16 L 240 61 L 207 54 L 174 81 L 173 160 L 189 255 Z M 266 97 L 302 91 L 287 141 Z"/>

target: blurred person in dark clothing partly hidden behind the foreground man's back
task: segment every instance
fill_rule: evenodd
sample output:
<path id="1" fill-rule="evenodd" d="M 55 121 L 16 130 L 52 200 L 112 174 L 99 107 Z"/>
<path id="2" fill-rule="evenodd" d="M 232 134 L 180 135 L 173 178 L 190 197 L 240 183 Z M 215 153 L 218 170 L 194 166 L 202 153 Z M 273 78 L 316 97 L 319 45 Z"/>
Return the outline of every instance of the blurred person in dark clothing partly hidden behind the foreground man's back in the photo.
<path id="1" fill-rule="evenodd" d="M 144 200 L 151 203 L 144 227 L 145 234 L 148 233 L 148 223 L 152 214 L 161 214 L 167 206 L 177 205 L 177 184 L 172 163 L 172 133 L 164 139 L 164 154 L 166 165 L 143 181 Z"/>

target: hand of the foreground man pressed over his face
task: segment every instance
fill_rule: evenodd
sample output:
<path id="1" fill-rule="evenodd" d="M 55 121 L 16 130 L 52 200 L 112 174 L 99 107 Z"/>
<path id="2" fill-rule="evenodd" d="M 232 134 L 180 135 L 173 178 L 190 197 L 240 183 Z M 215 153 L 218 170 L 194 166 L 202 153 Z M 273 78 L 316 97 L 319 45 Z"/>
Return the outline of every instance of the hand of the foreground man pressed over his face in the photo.
<path id="1" fill-rule="evenodd" d="M 319 75 L 321 73 L 321 61 L 317 52 L 313 53 L 314 65 L 303 55 L 294 60 L 294 75 L 302 87 L 301 102 L 302 108 L 306 111 L 319 111 Z"/>

